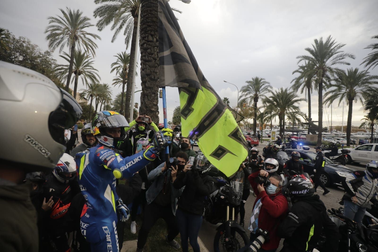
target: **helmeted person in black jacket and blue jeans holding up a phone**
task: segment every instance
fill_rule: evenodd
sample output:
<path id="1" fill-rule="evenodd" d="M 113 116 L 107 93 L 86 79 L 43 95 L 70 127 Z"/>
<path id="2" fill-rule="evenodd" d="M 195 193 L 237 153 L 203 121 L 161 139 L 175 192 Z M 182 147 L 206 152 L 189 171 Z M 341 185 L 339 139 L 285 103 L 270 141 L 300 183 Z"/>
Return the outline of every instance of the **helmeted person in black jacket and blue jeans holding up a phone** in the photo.
<path id="1" fill-rule="evenodd" d="M 178 227 L 181 235 L 183 252 L 188 251 L 188 238 L 194 252 L 200 252 L 197 238 L 202 224 L 204 201 L 214 191 L 214 179 L 206 173 L 210 170 L 211 163 L 203 155 L 198 153 L 193 166 L 185 166 L 183 172 L 177 175 L 173 186 L 177 189 L 184 188 L 178 199 L 176 212 Z"/>

